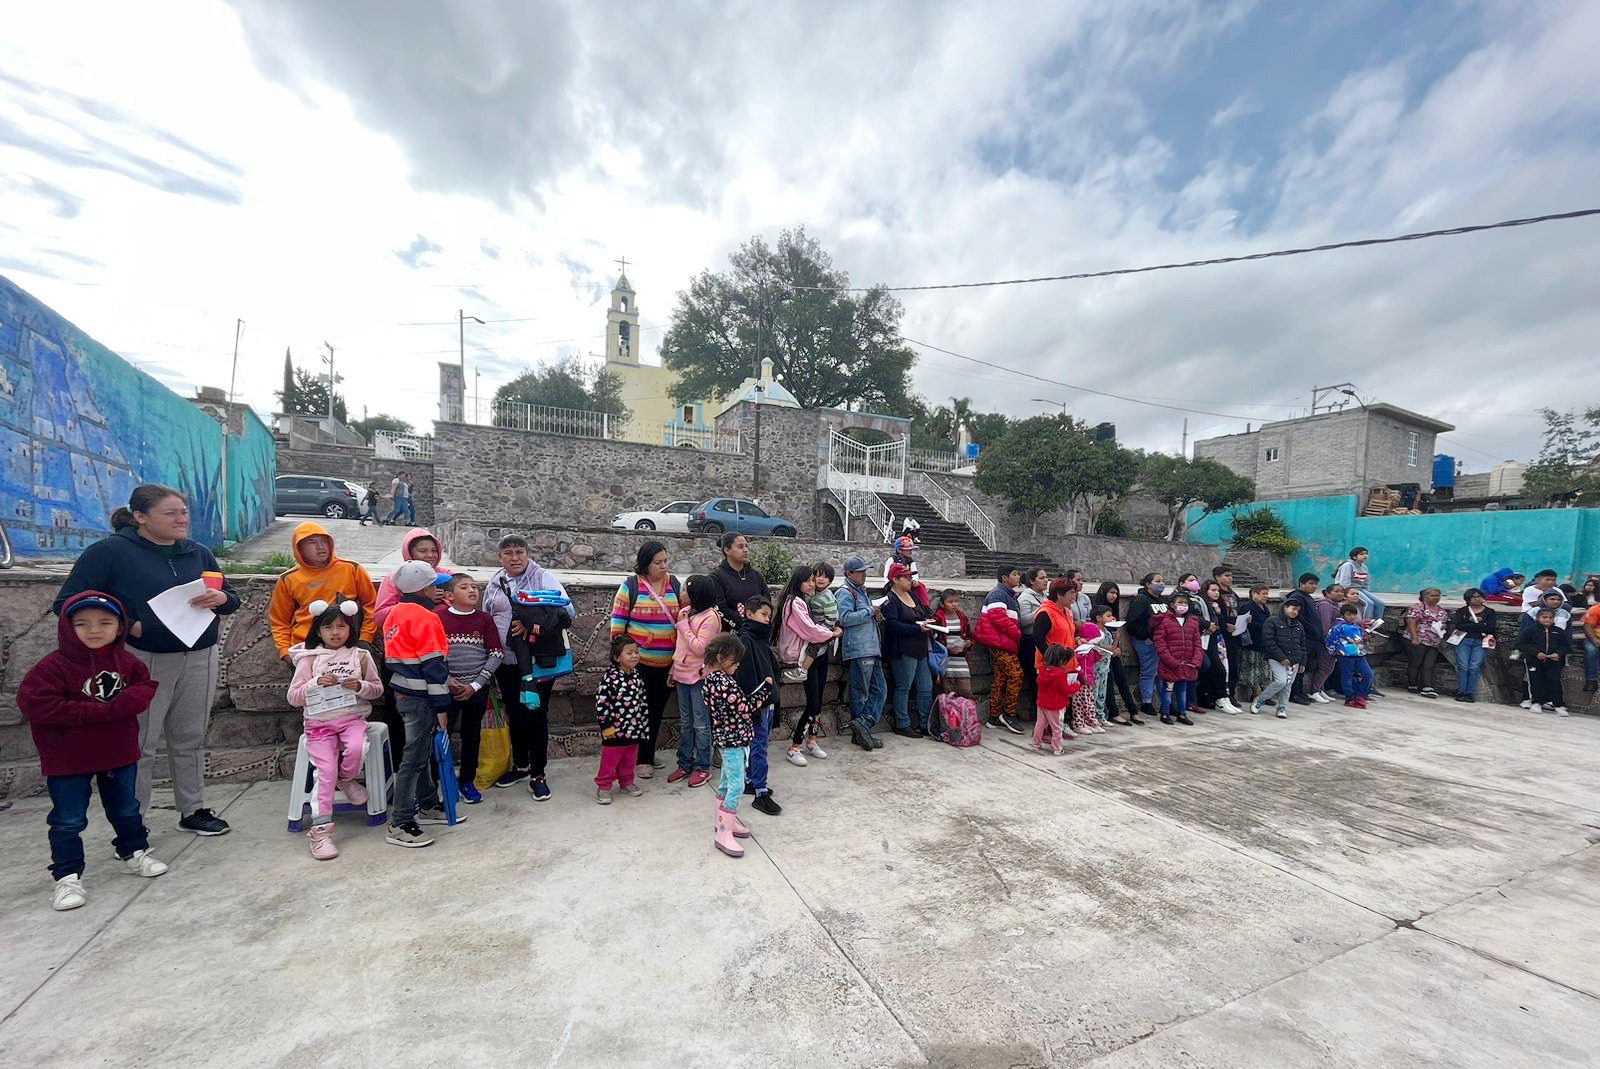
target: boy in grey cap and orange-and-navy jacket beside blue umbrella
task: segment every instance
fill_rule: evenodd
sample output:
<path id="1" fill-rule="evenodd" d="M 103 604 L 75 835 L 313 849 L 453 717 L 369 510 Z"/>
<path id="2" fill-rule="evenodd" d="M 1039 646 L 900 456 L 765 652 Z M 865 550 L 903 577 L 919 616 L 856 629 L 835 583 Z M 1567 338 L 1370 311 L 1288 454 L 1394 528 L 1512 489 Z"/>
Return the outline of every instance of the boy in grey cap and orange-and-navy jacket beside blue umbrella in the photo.
<path id="1" fill-rule="evenodd" d="M 421 824 L 445 824 L 438 786 L 429 757 L 434 728 L 450 727 L 450 640 L 429 594 L 437 575 L 422 560 L 408 560 L 394 571 L 400 600 L 384 618 L 384 661 L 395 711 L 405 723 L 405 752 L 395 771 L 395 797 L 389 842 L 395 847 L 430 847 Z M 456 824 L 466 821 L 456 815 Z"/>

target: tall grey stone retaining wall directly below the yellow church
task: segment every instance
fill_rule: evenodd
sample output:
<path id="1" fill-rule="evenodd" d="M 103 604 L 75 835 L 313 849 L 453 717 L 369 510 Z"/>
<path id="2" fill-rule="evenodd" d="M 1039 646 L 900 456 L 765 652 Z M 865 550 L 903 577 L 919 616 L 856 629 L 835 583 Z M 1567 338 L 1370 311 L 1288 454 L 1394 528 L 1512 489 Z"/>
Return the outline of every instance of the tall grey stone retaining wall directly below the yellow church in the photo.
<path id="1" fill-rule="evenodd" d="M 746 453 L 730 454 L 437 422 L 434 466 L 440 520 L 488 514 L 605 526 L 618 512 L 674 499 L 752 496 L 749 443 Z M 814 530 L 814 470 L 806 482 L 763 483 L 757 496 L 768 512 L 795 520 L 802 534 Z"/>

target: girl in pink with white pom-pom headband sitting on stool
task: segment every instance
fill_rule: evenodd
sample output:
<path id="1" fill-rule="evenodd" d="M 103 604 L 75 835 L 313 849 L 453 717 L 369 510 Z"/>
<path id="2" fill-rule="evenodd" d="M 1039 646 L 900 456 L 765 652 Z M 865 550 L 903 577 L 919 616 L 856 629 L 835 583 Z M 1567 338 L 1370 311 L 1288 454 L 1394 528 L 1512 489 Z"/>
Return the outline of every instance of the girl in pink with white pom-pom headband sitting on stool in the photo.
<path id="1" fill-rule="evenodd" d="M 366 743 L 366 714 L 371 701 L 382 698 L 373 655 L 354 645 L 362 634 L 362 607 L 334 594 L 333 602 L 312 602 L 310 634 L 304 645 L 290 647 L 294 682 L 290 704 L 306 711 L 306 755 L 317 770 L 317 797 L 312 802 L 310 856 L 330 861 L 339 856 L 333 845 L 333 791 L 338 787 L 352 805 L 366 805 L 362 775 L 362 747 Z"/>

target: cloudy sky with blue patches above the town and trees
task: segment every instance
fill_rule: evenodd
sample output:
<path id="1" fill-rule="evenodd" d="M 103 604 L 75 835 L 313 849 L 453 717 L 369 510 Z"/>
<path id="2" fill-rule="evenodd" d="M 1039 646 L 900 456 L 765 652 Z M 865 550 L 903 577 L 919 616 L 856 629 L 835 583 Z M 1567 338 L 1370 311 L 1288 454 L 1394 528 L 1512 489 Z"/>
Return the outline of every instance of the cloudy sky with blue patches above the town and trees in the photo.
<path id="1" fill-rule="evenodd" d="M 1397 8 L 1413 8 L 1397 13 Z M 24 5 L 0 40 L 0 274 L 174 389 L 272 408 L 334 344 L 427 421 L 603 347 L 805 226 L 854 282 L 1064 274 L 1600 206 L 1600 3 Z M 1176 448 L 1352 381 L 1472 470 L 1600 403 L 1600 219 L 1101 282 L 904 294 L 931 398 L 1059 398 Z M 419 325 L 418 325 L 419 323 Z M 654 330 L 653 330 L 654 328 Z"/>

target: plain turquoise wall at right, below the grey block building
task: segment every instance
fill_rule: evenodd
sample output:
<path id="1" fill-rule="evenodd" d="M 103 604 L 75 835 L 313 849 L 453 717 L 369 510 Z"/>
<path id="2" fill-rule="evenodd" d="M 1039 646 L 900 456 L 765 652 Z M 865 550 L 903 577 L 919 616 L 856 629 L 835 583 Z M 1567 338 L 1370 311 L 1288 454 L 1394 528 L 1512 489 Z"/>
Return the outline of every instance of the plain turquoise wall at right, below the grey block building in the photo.
<path id="1" fill-rule="evenodd" d="M 1518 509 L 1502 512 L 1440 512 L 1435 515 L 1358 517 L 1354 494 L 1258 501 L 1283 517 L 1302 546 L 1290 567 L 1294 575 L 1333 576 L 1352 546 L 1371 551 L 1368 567 L 1381 591 L 1419 591 L 1426 586 L 1461 594 L 1496 568 L 1533 575 L 1555 568 L 1566 583 L 1600 573 L 1600 509 Z M 1229 543 L 1227 512 L 1195 518 L 1192 543 Z M 1579 579 L 1581 581 L 1581 579 Z"/>

